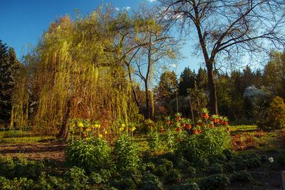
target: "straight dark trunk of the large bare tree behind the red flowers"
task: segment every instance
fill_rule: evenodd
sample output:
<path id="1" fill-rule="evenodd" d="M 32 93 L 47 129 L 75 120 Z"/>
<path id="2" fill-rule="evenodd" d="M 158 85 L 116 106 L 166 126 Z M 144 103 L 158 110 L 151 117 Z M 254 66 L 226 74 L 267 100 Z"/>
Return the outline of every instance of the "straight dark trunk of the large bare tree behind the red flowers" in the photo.
<path id="1" fill-rule="evenodd" d="M 212 63 L 207 63 L 207 75 L 208 75 L 208 88 L 209 88 L 209 112 L 211 114 L 218 114 L 217 104 L 217 90 L 214 83 L 213 67 Z"/>

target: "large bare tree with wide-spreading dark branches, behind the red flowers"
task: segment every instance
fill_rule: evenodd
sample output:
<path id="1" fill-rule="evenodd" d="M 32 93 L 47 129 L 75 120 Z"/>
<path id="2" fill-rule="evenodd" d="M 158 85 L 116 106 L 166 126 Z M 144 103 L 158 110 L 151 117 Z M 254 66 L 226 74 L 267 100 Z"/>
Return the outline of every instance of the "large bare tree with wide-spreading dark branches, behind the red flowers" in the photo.
<path id="1" fill-rule="evenodd" d="M 195 33 L 207 68 L 209 107 L 217 114 L 213 70 L 218 57 L 234 58 L 285 47 L 284 0 L 160 0 L 162 19 Z"/>

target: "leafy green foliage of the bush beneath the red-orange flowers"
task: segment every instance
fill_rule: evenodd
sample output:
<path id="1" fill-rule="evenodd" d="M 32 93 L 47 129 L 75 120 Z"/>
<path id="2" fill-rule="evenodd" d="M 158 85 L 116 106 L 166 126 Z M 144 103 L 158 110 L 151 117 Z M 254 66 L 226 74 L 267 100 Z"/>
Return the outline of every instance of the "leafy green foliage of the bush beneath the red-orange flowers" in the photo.
<path id="1" fill-rule="evenodd" d="M 177 153 L 182 154 L 187 160 L 209 159 L 222 154 L 229 149 L 230 137 L 222 127 L 204 130 L 200 134 L 185 137 L 180 143 Z"/>

